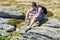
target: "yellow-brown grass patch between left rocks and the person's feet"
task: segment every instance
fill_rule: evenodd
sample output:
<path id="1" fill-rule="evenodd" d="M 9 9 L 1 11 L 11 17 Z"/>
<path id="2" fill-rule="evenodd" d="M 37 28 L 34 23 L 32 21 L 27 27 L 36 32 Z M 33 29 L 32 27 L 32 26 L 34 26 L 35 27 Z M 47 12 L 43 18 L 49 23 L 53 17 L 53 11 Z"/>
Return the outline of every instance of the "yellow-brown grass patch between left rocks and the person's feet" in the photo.
<path id="1" fill-rule="evenodd" d="M 12 25 L 12 26 L 16 26 L 16 28 L 20 28 L 21 26 L 24 25 L 24 21 L 12 18 L 11 20 L 8 21 L 7 24 Z"/>

